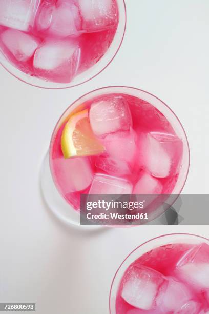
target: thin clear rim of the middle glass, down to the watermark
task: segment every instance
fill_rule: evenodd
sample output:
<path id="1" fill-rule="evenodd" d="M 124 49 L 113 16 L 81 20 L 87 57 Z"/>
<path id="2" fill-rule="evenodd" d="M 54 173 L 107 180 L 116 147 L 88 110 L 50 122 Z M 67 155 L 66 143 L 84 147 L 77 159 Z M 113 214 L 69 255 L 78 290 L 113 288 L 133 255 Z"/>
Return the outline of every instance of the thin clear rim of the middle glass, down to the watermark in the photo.
<path id="1" fill-rule="evenodd" d="M 188 177 L 188 174 L 189 174 L 189 169 L 190 169 L 190 146 L 189 146 L 189 142 L 188 142 L 188 139 L 187 139 L 187 136 L 186 136 L 186 132 L 185 132 L 185 130 L 184 130 L 184 128 L 183 128 L 183 126 L 182 126 L 182 124 L 181 124 L 181 122 L 180 122 L 178 116 L 175 114 L 175 112 L 174 112 L 168 105 L 166 105 L 159 97 L 157 97 L 157 96 L 155 96 L 154 94 L 152 94 L 152 93 L 150 93 L 150 92 L 148 92 L 148 91 L 145 91 L 145 90 L 143 90 L 143 89 L 136 88 L 136 87 L 130 87 L 130 86 L 120 86 L 120 85 L 117 86 L 117 85 L 115 85 L 115 86 L 105 86 L 105 87 L 101 87 L 101 88 L 94 89 L 94 90 L 92 90 L 92 91 L 90 91 L 90 92 L 87 92 L 87 93 L 83 94 L 82 96 L 78 97 L 78 99 L 76 99 L 75 101 L 73 101 L 73 102 L 67 107 L 67 109 L 60 115 L 60 117 L 59 117 L 59 119 L 58 119 L 58 121 L 57 121 L 57 123 L 56 123 L 56 125 L 55 125 L 55 127 L 54 127 L 54 129 L 53 129 L 53 131 L 52 131 L 51 140 L 50 140 L 50 145 L 49 145 L 49 164 L 50 164 L 50 171 L 51 171 L 52 179 L 53 179 L 53 182 L 54 182 L 56 188 L 57 188 L 57 185 L 56 185 L 56 182 L 55 182 L 55 180 L 54 180 L 54 175 L 53 175 L 53 171 L 52 171 L 50 156 L 51 156 L 51 149 L 52 149 L 52 145 L 53 145 L 54 134 L 55 134 L 55 131 L 56 131 L 56 129 L 57 129 L 57 127 L 58 127 L 58 125 L 59 125 L 61 119 L 62 119 L 62 116 L 64 116 L 64 115 L 68 112 L 68 110 L 69 110 L 71 107 L 73 107 L 73 105 L 75 105 L 77 102 L 79 102 L 83 97 L 86 97 L 86 96 L 88 96 L 88 95 L 90 95 L 90 94 L 93 94 L 93 93 L 95 93 L 95 92 L 97 92 L 97 91 L 100 91 L 100 90 L 102 91 L 102 90 L 105 90 L 105 89 L 115 89 L 115 88 L 125 88 L 125 89 L 140 91 L 140 92 L 143 92 L 143 93 L 145 93 L 145 94 L 151 95 L 152 97 L 154 97 L 155 99 L 157 99 L 158 101 L 160 101 L 160 102 L 165 106 L 165 108 L 168 109 L 168 111 L 170 111 L 170 112 L 174 115 L 175 119 L 178 121 L 178 123 L 179 123 L 179 125 L 180 125 L 180 127 L 181 127 L 181 129 L 182 129 L 182 131 L 183 131 L 184 138 L 185 138 L 185 144 L 186 144 L 187 154 L 188 154 L 188 163 L 187 163 L 187 168 L 186 168 L 186 171 L 185 171 L 185 177 L 184 177 L 184 180 L 183 180 L 183 184 L 182 184 L 182 186 L 181 186 L 179 192 L 178 192 L 177 195 L 176 195 L 176 198 L 175 198 L 175 200 L 174 200 L 174 202 L 175 202 L 175 201 L 177 200 L 177 198 L 179 197 L 179 194 L 181 193 L 181 191 L 182 191 L 183 188 L 184 188 L 184 185 L 185 185 L 185 183 L 186 183 L 186 180 L 187 180 L 187 177 Z M 151 105 L 152 105 L 152 104 L 151 104 Z M 154 105 L 152 105 L 152 106 L 154 106 Z M 58 188 L 57 188 L 57 189 L 58 189 Z M 58 189 L 58 191 L 59 191 L 59 189 Z M 61 195 L 61 193 L 60 193 L 60 195 Z M 63 195 L 61 195 L 61 197 L 63 198 Z M 66 201 L 66 202 L 67 202 L 67 201 Z M 174 203 L 174 202 L 173 202 L 173 203 Z"/>

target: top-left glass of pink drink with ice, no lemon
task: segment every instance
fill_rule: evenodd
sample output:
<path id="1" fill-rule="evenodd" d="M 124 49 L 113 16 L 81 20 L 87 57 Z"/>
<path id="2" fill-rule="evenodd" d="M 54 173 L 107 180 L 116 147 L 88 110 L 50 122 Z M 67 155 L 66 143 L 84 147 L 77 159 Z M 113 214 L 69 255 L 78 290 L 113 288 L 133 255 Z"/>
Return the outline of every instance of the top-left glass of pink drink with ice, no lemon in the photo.
<path id="1" fill-rule="evenodd" d="M 0 63 L 34 86 L 76 86 L 112 61 L 125 28 L 124 0 L 1 0 Z"/>

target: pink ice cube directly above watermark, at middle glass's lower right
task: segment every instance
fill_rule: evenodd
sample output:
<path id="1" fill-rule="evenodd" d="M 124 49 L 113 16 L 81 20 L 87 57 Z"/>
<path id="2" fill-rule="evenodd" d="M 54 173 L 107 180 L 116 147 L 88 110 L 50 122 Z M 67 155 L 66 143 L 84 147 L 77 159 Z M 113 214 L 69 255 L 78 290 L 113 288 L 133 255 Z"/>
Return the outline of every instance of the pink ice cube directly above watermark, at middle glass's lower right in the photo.
<path id="1" fill-rule="evenodd" d="M 134 187 L 134 194 L 160 194 L 162 192 L 161 182 L 144 172 Z"/>

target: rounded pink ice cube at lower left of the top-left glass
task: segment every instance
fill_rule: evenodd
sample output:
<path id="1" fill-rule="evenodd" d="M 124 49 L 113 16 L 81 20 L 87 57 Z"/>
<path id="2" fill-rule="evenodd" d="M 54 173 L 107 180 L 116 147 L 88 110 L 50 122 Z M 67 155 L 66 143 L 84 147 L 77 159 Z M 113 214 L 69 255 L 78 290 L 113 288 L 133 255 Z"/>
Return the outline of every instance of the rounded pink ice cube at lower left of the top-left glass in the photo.
<path id="1" fill-rule="evenodd" d="M 39 41 L 22 31 L 7 29 L 1 34 L 1 40 L 18 61 L 27 61 L 38 48 Z"/>

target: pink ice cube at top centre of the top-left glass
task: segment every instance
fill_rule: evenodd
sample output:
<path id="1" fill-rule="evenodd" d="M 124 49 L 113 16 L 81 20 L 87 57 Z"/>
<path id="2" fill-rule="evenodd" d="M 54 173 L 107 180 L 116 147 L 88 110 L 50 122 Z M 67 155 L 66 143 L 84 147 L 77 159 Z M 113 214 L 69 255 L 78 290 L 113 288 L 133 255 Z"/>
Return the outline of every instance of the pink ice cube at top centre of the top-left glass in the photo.
<path id="1" fill-rule="evenodd" d="M 60 37 L 67 37 L 78 35 L 80 29 L 81 21 L 78 7 L 70 2 L 59 1 L 58 7 L 52 15 L 49 28 L 50 33 Z"/>

